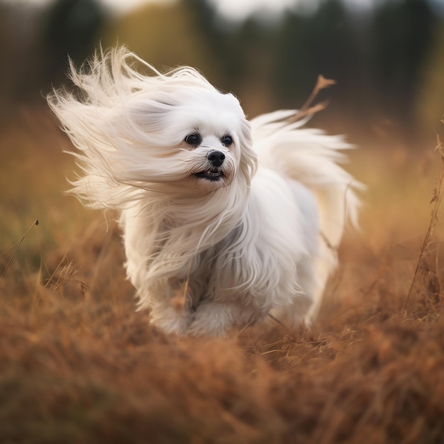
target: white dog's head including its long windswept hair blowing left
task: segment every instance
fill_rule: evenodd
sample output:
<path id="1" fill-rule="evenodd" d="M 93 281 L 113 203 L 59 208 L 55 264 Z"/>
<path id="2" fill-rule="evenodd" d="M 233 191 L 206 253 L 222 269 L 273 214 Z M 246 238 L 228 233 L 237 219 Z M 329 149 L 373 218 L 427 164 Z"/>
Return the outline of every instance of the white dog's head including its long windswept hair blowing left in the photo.
<path id="1" fill-rule="evenodd" d="M 161 74 L 122 47 L 79 70 L 71 63 L 70 77 L 80 94 L 54 91 L 48 103 L 79 150 L 73 192 L 87 204 L 120 207 L 143 199 L 138 189 L 248 189 L 257 163 L 250 124 L 233 94 L 193 68 Z"/>

